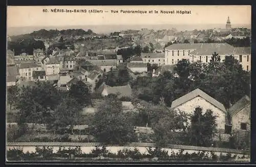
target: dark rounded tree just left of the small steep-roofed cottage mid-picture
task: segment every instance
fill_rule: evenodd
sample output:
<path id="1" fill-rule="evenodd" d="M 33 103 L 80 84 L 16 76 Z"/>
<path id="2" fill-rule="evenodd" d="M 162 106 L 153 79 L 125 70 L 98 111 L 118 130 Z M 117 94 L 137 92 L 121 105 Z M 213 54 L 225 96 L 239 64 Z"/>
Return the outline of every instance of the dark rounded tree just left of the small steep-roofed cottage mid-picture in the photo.
<path id="1" fill-rule="evenodd" d="M 72 84 L 69 91 L 69 96 L 76 99 L 81 106 L 88 106 L 91 102 L 91 87 L 83 81 L 77 81 Z"/>

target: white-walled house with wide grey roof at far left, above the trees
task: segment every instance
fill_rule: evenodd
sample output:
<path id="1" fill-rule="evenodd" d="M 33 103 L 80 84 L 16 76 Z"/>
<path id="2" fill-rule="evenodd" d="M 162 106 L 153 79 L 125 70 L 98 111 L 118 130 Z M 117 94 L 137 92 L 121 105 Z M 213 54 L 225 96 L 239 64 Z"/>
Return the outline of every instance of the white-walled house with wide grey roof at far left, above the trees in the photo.
<path id="1" fill-rule="evenodd" d="M 33 71 L 41 71 L 42 67 L 36 63 L 22 63 L 19 65 L 18 73 L 20 77 L 28 81 L 33 81 Z"/>

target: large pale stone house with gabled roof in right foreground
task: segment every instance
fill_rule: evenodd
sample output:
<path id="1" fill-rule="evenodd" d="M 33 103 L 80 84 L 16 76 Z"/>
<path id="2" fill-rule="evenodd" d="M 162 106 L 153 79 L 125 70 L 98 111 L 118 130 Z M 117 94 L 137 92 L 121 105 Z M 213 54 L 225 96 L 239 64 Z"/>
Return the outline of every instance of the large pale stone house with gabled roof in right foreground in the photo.
<path id="1" fill-rule="evenodd" d="M 203 113 L 210 109 L 216 117 L 217 130 L 225 130 L 227 112 L 224 105 L 200 89 L 195 89 L 172 102 L 173 110 L 194 114 L 195 108 L 201 107 Z"/>

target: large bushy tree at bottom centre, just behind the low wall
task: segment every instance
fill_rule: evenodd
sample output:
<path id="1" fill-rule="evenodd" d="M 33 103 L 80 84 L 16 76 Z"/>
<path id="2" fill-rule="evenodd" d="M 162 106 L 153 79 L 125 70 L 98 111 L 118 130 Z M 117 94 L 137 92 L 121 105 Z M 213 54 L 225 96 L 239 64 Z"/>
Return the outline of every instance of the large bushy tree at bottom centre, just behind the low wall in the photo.
<path id="1" fill-rule="evenodd" d="M 99 106 L 93 122 L 99 142 L 122 145 L 135 139 L 133 126 L 122 111 L 122 103 L 113 97 Z"/>

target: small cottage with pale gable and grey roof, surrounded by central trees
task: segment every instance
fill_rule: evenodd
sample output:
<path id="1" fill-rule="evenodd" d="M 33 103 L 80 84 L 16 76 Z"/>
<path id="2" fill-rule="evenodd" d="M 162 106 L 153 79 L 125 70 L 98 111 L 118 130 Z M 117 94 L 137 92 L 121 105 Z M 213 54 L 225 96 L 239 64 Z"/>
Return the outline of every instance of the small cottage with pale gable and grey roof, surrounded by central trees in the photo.
<path id="1" fill-rule="evenodd" d="M 109 94 L 117 94 L 118 98 L 132 97 L 132 88 L 130 85 L 111 87 L 105 85 L 105 83 L 102 83 L 102 85 L 98 88 L 98 91 L 100 91 L 103 97 L 106 97 Z"/>

